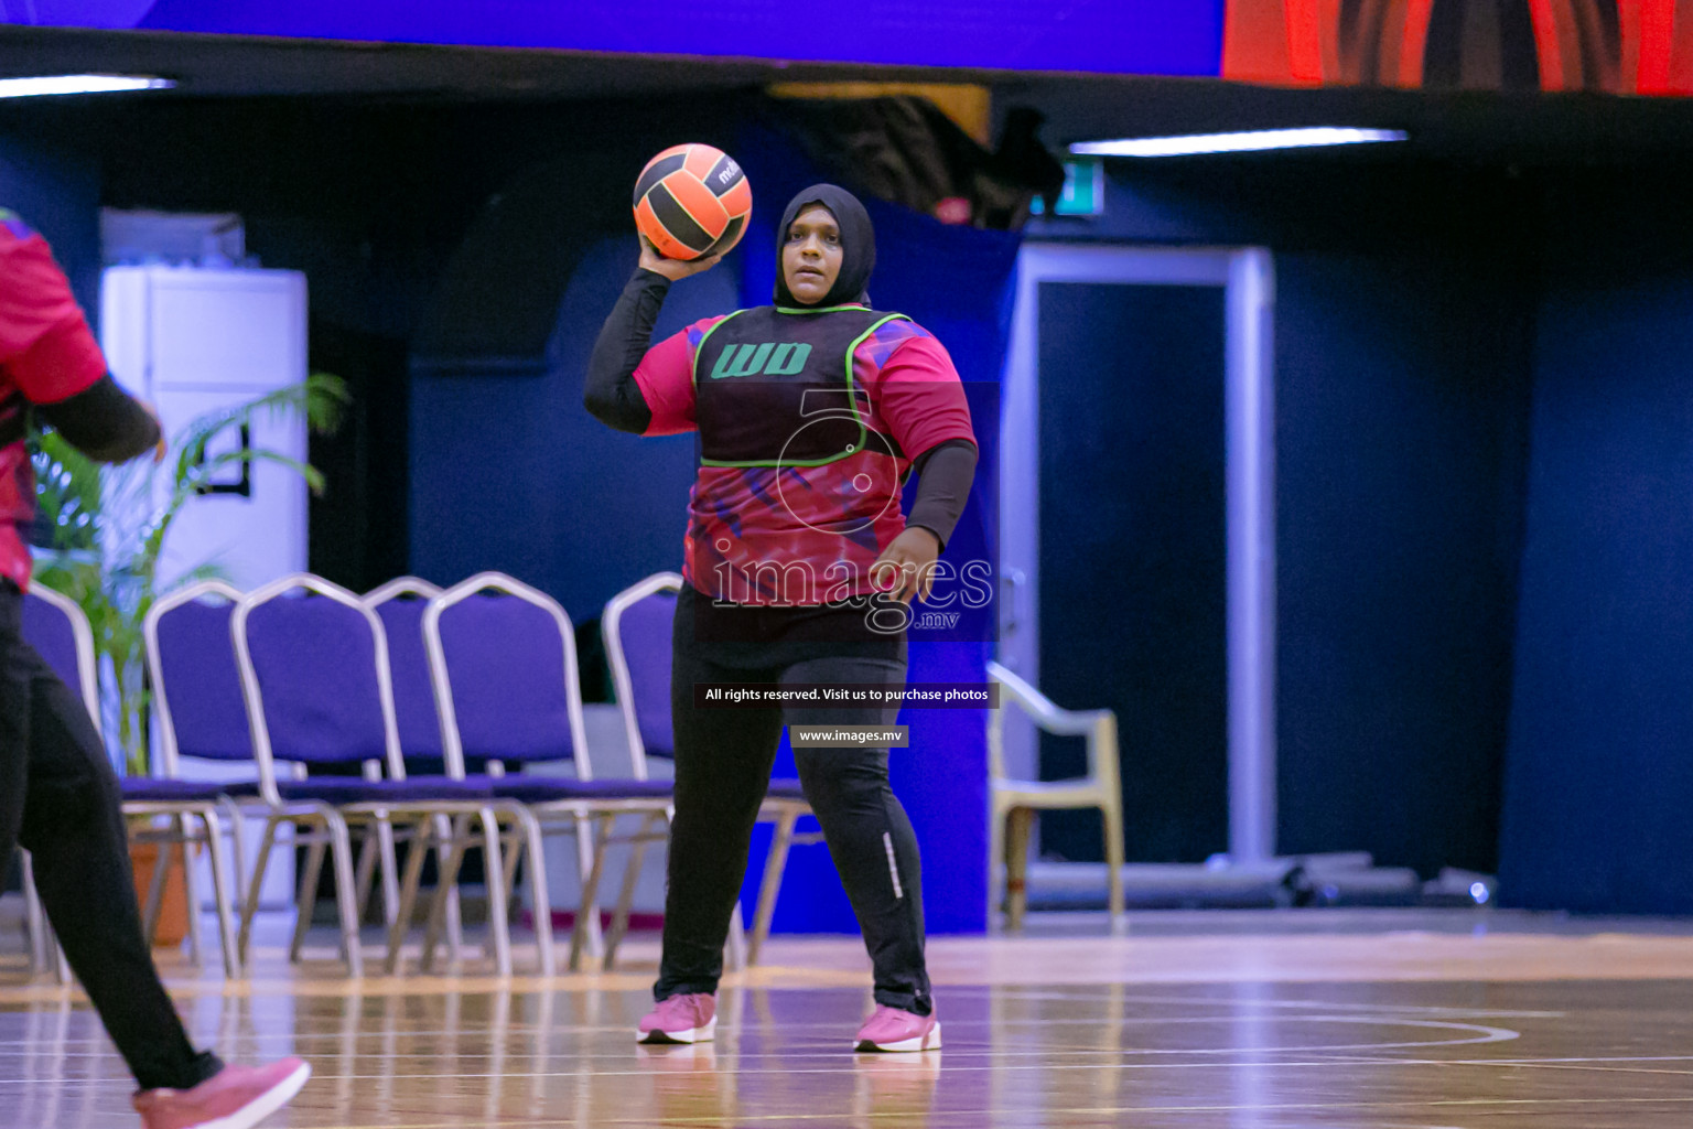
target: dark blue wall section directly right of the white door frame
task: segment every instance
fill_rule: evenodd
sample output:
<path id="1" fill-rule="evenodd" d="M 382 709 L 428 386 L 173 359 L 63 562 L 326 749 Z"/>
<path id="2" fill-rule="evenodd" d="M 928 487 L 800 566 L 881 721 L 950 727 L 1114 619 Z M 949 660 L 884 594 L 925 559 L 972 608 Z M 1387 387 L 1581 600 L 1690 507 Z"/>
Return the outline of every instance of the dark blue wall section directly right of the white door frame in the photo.
<path id="1" fill-rule="evenodd" d="M 1280 846 L 1492 872 L 1529 295 L 1480 247 L 1288 252 L 1277 289 Z"/>

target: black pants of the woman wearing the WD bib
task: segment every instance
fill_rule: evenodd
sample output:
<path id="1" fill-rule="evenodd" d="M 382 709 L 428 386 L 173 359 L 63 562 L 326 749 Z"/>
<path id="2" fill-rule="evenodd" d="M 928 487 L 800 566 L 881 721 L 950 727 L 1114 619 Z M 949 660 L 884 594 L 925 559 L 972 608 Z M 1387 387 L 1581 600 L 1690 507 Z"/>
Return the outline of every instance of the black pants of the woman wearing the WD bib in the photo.
<path id="1" fill-rule="evenodd" d="M 679 626 L 679 636 L 682 628 Z M 664 956 L 655 999 L 716 992 L 735 899 L 770 765 L 792 724 L 892 724 L 897 709 L 694 708 L 696 682 L 906 682 L 889 658 L 821 657 L 779 667 L 713 662 L 709 643 L 677 638 L 670 674 L 676 733 L 676 821 L 670 828 Z M 806 801 L 818 816 L 841 885 L 863 929 L 875 1002 L 928 1016 L 918 836 L 887 784 L 887 748 L 794 750 Z"/>

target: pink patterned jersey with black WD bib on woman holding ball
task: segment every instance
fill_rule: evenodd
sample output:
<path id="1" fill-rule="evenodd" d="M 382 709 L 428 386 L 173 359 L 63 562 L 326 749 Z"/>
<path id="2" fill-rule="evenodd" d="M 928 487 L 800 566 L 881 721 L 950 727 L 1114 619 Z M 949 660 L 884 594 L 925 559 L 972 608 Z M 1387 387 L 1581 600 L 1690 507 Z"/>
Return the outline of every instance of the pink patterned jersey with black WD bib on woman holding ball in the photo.
<path id="1" fill-rule="evenodd" d="M 875 591 L 906 528 L 914 459 L 973 443 L 951 359 L 897 313 L 760 306 L 653 345 L 633 372 L 647 435 L 698 432 L 682 574 L 736 604 L 821 604 Z"/>

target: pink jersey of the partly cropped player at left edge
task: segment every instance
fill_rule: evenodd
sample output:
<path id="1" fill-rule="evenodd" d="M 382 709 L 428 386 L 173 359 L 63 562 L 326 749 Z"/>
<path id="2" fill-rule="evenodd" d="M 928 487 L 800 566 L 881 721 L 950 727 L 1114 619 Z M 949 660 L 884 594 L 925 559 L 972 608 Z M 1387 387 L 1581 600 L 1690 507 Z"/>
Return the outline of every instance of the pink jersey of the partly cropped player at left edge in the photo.
<path id="1" fill-rule="evenodd" d="M 19 526 L 36 513 L 24 413 L 76 396 L 103 376 L 105 357 L 47 242 L 0 210 L 0 577 L 19 587 L 30 572 Z"/>

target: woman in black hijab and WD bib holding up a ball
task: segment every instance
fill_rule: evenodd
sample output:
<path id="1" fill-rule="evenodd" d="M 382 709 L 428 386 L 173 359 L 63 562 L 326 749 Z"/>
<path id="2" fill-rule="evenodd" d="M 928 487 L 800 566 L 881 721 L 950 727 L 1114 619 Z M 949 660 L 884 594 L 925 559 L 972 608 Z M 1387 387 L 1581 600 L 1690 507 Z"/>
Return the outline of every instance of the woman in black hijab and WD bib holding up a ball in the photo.
<path id="1" fill-rule="evenodd" d="M 643 240 L 606 318 L 586 405 L 637 435 L 698 432 L 676 609 L 676 823 L 664 956 L 645 1043 L 713 1038 L 723 943 L 786 723 L 891 724 L 894 708 L 698 708 L 701 682 L 906 680 L 904 608 L 963 511 L 977 447 L 946 350 L 870 308 L 875 234 L 858 200 L 804 190 L 779 227 L 775 305 L 706 318 L 648 347 L 682 262 Z M 918 474 L 911 515 L 901 484 Z M 863 929 L 875 1011 L 860 1051 L 940 1046 L 923 960 L 918 841 L 889 750 L 796 748 L 806 799 Z"/>

